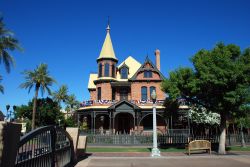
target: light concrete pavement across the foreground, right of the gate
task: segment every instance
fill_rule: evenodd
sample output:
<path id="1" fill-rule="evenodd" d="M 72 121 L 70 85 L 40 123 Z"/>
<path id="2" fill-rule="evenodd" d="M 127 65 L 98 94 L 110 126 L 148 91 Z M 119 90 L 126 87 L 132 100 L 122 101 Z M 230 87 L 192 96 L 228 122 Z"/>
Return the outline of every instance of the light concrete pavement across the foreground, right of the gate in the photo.
<path id="1" fill-rule="evenodd" d="M 249 167 L 249 154 L 231 155 L 169 155 L 159 158 L 90 156 L 75 167 Z"/>

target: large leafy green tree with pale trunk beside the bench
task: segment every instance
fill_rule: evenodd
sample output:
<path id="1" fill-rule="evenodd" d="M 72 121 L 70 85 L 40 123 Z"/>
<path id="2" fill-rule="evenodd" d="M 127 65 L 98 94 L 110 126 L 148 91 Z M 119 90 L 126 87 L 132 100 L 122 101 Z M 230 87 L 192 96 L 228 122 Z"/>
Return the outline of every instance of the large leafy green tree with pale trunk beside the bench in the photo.
<path id="1" fill-rule="evenodd" d="M 183 97 L 220 114 L 218 153 L 225 154 L 226 121 L 249 104 L 250 49 L 241 53 L 236 45 L 219 43 L 212 50 L 200 50 L 191 60 L 194 69 L 170 72 L 162 88 L 172 98 Z"/>

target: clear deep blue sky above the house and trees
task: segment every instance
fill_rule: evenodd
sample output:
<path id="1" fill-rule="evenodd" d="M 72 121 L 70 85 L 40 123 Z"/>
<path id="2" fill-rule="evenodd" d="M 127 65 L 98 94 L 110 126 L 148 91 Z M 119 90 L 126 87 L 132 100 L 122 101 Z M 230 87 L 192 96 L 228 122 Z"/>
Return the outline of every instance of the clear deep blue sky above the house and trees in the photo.
<path id="1" fill-rule="evenodd" d="M 250 1 L 248 0 L 0 0 L 6 26 L 15 32 L 22 53 L 12 52 L 16 66 L 6 74 L 0 64 L 0 110 L 6 104 L 27 104 L 34 91 L 18 88 L 21 72 L 48 64 L 58 84 L 69 87 L 79 101 L 89 98 L 87 83 L 97 71 L 110 16 L 111 38 L 119 62 L 132 55 L 143 62 L 161 50 L 165 76 L 180 66 L 191 66 L 190 57 L 216 43 L 250 47 Z M 45 95 L 46 97 L 46 95 Z"/>

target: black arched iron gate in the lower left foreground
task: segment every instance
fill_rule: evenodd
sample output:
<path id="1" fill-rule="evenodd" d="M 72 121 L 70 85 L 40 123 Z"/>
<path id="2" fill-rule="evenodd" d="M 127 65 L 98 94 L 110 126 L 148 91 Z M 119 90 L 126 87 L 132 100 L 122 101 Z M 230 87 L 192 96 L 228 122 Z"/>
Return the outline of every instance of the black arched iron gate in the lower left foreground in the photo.
<path id="1" fill-rule="evenodd" d="M 23 136 L 16 167 L 66 167 L 73 164 L 73 142 L 62 128 L 46 126 Z"/>

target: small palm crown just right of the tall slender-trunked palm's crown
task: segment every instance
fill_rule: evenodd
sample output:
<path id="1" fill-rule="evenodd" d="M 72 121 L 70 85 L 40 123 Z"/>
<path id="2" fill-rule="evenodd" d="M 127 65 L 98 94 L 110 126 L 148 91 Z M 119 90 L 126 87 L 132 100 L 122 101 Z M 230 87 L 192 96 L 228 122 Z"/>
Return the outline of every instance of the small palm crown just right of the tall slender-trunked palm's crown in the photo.
<path id="1" fill-rule="evenodd" d="M 58 91 L 52 93 L 53 99 L 60 105 L 61 102 L 66 102 L 68 98 L 68 87 L 62 85 Z"/>

